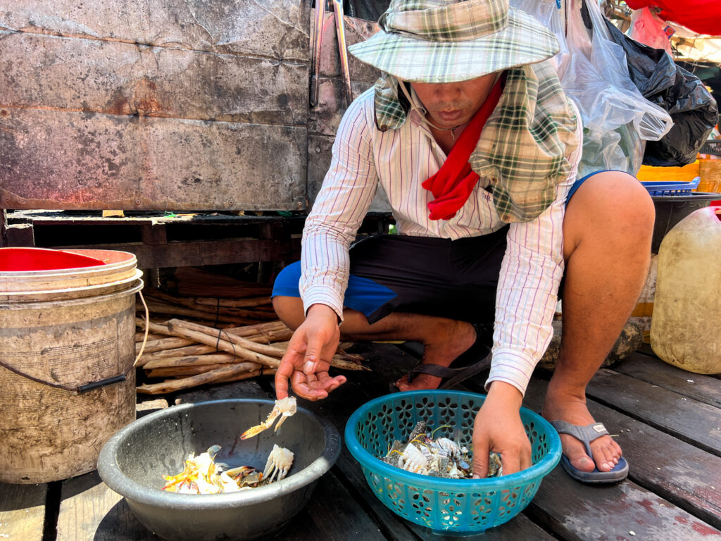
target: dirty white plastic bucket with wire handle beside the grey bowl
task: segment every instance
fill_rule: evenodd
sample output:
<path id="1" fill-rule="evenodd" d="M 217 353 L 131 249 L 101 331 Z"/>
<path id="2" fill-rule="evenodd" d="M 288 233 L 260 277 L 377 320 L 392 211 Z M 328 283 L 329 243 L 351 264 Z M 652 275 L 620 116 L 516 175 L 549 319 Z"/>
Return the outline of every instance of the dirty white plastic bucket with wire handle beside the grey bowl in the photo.
<path id="1" fill-rule="evenodd" d="M 0 248 L 0 261 L 5 250 L 14 249 Z M 99 263 L 26 271 L 0 265 L 5 483 L 47 483 L 94 470 L 105 441 L 136 417 L 135 296 L 143 287 L 136 257 L 72 252 Z"/>

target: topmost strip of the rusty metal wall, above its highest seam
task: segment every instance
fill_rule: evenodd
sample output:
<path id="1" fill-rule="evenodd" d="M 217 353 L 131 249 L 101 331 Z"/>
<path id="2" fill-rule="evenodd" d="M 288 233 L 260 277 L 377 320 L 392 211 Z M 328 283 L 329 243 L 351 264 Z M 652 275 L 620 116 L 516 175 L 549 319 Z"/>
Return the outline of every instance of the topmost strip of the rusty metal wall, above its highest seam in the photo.
<path id="1" fill-rule="evenodd" d="M 0 28 L 308 60 L 302 0 L 0 0 Z"/>

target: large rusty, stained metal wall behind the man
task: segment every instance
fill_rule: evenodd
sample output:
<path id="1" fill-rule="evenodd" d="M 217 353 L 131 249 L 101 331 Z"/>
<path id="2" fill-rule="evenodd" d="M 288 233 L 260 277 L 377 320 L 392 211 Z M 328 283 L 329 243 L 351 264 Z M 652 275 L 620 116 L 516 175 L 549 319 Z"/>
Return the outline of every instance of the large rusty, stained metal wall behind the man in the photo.
<path id="1" fill-rule="evenodd" d="M 0 208 L 306 210 L 345 109 L 329 13 L 309 110 L 312 14 L 301 0 L 0 0 Z M 374 31 L 346 29 L 349 44 Z M 377 77 L 351 71 L 355 95 Z"/>

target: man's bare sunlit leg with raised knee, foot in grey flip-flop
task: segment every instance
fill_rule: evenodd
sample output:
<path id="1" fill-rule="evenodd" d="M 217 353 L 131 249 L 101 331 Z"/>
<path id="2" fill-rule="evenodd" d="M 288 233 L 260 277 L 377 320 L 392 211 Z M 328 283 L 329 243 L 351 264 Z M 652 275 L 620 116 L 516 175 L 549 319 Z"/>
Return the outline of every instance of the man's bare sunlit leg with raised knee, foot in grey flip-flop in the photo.
<path id="1" fill-rule="evenodd" d="M 544 417 L 593 423 L 585 387 L 611 351 L 641 294 L 650 263 L 653 201 L 631 175 L 590 177 L 568 203 L 563 224 L 566 261 L 563 334 Z M 593 471 L 583 444 L 561 435 L 572 465 Z M 621 448 L 610 436 L 591 443 L 596 467 L 613 469 Z"/>

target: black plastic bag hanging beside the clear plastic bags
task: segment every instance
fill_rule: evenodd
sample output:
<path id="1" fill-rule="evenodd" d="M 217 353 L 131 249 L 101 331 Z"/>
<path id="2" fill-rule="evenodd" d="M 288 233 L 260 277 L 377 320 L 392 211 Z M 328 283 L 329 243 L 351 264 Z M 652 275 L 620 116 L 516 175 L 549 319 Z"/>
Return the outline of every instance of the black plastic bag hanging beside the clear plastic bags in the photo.
<path id="1" fill-rule="evenodd" d="M 643 96 L 671 115 L 673 127 L 659 141 L 647 141 L 643 163 L 687 165 L 696 159 L 718 122 L 716 100 L 701 79 L 677 66 L 663 49 L 639 43 L 608 19 L 611 39 L 624 48 L 629 76 Z"/>

